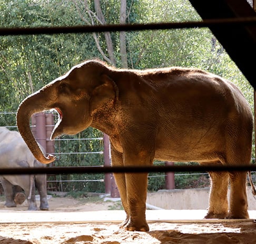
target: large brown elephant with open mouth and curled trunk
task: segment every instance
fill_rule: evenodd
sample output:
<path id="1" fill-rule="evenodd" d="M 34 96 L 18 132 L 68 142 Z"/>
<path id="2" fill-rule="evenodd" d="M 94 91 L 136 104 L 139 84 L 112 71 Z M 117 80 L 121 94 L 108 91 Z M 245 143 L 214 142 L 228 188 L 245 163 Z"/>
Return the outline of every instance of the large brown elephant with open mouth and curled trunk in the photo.
<path id="1" fill-rule="evenodd" d="M 33 113 L 55 109 L 51 138 L 93 126 L 110 136 L 113 166 L 153 160 L 249 165 L 253 117 L 241 91 L 211 73 L 189 68 L 116 69 L 90 60 L 74 66 L 27 97 L 17 111 L 18 130 L 38 161 L 45 157 L 31 130 Z M 121 227 L 148 231 L 147 174 L 114 174 L 126 219 Z M 246 172 L 210 172 L 205 218 L 249 218 Z M 228 206 L 227 191 L 231 195 Z"/>

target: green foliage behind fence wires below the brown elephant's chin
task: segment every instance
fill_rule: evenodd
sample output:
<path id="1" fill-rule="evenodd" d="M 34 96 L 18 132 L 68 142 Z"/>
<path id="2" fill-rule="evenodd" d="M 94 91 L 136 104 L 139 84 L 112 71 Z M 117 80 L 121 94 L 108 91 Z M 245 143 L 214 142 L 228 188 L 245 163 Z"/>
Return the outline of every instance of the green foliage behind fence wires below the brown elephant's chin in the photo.
<path id="1" fill-rule="evenodd" d="M 73 136 L 62 136 L 60 141 L 55 142 L 57 160 L 54 162 L 54 166 L 103 165 L 103 142 L 102 140 L 93 140 L 101 137 L 103 137 L 103 133 L 91 127 Z M 105 185 L 102 181 L 104 174 L 61 175 L 57 176 L 57 179 L 63 181 L 61 187 L 64 192 L 105 192 Z"/>

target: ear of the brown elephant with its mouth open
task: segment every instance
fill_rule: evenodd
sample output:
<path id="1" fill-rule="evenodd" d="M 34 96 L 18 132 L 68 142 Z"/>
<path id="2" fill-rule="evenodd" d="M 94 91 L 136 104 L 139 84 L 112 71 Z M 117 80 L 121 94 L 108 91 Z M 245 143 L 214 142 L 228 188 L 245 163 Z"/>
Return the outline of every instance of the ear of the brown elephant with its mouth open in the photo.
<path id="1" fill-rule="evenodd" d="M 118 96 L 118 90 L 115 82 L 107 75 L 102 75 L 101 78 L 102 83 L 94 88 L 90 99 L 91 114 L 93 114 L 97 109 L 100 109 L 107 102 L 115 100 Z"/>

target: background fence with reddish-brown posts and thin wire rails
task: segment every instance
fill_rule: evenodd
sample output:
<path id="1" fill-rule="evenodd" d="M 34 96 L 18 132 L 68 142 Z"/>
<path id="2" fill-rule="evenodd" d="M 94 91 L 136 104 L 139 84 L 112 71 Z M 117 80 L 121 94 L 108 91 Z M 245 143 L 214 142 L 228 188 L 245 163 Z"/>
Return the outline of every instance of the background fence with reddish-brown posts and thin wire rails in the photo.
<path id="1" fill-rule="evenodd" d="M 16 112 L 0 112 L 2 115 L 6 116 L 15 116 Z M 67 154 L 103 154 L 104 156 L 104 165 L 105 166 L 111 166 L 111 155 L 110 155 L 110 141 L 109 137 L 104 134 L 103 137 L 97 137 L 97 138 L 80 138 L 80 139 L 55 139 L 50 140 L 50 136 L 52 133 L 52 130 L 54 128 L 54 121 L 55 121 L 56 113 L 54 112 L 40 112 L 32 115 L 31 118 L 31 130 L 33 135 L 35 136 L 35 139 L 38 143 L 42 145 L 44 148 L 44 151 L 46 154 L 54 154 L 57 157 Z M 8 129 L 14 129 L 17 130 L 16 125 L 5 125 Z M 99 140 L 103 141 L 103 151 L 99 152 L 63 152 L 63 150 L 60 150 L 62 152 L 55 152 L 55 142 L 59 141 L 83 141 L 83 140 Z M 173 165 L 172 162 L 165 162 L 166 165 Z M 74 162 L 74 165 L 76 163 Z M 48 167 L 53 167 L 54 163 L 47 165 Z M 115 180 L 112 173 L 105 173 L 105 177 L 102 179 L 71 179 L 66 180 L 62 179 L 61 175 L 59 176 L 60 179 L 56 179 L 55 174 L 47 174 L 47 189 L 51 191 L 58 191 L 64 188 L 63 183 L 74 183 L 74 182 L 103 182 L 105 185 L 105 193 L 111 194 L 111 197 L 119 197 L 119 191 L 117 189 L 117 186 L 115 184 Z M 160 176 L 149 176 L 151 177 L 165 177 L 165 189 L 174 189 L 175 188 L 175 182 L 174 182 L 174 173 L 173 172 L 167 172 L 165 175 Z"/>

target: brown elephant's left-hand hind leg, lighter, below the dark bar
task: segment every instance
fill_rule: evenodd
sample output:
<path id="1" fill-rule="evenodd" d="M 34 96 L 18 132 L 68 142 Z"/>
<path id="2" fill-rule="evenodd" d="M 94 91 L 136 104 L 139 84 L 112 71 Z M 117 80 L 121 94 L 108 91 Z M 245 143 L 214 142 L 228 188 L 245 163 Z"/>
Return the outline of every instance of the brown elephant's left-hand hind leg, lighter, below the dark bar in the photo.
<path id="1" fill-rule="evenodd" d="M 227 172 L 209 172 L 211 176 L 211 190 L 209 196 L 208 213 L 206 219 L 223 219 L 228 215 L 228 185 Z"/>

